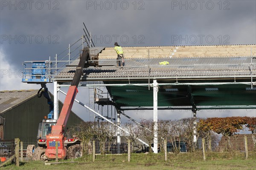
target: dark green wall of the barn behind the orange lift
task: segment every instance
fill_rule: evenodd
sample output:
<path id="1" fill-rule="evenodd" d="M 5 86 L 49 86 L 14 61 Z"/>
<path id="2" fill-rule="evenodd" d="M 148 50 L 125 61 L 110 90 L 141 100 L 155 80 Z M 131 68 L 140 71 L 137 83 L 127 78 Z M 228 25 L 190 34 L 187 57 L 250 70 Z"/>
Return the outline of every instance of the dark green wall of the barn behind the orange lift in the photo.
<path id="1" fill-rule="evenodd" d="M 52 98 L 53 101 L 53 98 Z M 59 102 L 59 112 L 63 104 Z M 5 112 L 6 119 L 4 139 L 20 138 L 23 143 L 35 143 L 38 133 L 38 125 L 49 113 L 49 105 L 44 97 L 35 96 L 29 101 Z M 70 112 L 67 126 L 74 126 L 82 121 L 76 114 Z"/>

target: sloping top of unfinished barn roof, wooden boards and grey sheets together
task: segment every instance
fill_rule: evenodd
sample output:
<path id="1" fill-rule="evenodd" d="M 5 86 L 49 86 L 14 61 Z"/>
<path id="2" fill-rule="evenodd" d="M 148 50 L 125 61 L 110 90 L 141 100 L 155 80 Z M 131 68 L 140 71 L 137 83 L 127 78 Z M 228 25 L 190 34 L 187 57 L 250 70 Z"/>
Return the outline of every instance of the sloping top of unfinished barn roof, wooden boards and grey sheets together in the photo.
<path id="1" fill-rule="evenodd" d="M 82 81 L 249 77 L 250 56 L 256 56 L 256 45 L 123 47 L 124 69 L 116 67 L 113 47 L 96 51 L 101 67 L 85 68 Z M 169 64 L 160 65 L 162 61 Z M 73 61 L 54 80 L 72 81 L 78 62 Z"/>

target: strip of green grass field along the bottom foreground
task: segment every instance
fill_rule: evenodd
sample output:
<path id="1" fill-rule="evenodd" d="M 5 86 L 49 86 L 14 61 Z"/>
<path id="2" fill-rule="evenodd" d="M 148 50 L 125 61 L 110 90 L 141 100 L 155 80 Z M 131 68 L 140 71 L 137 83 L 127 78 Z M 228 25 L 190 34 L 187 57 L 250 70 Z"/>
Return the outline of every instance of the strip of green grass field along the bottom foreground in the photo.
<path id="1" fill-rule="evenodd" d="M 180 154 L 182 157 L 169 156 L 167 162 L 162 154 L 132 154 L 131 162 L 127 161 L 127 154 L 97 155 L 95 162 L 91 156 L 83 156 L 75 160 L 78 163 L 44 165 L 43 161 L 20 162 L 20 167 L 7 164 L 3 170 L 256 170 L 256 159 L 225 159 L 199 160 L 189 154 Z M 172 159 L 173 157 L 173 159 Z M 175 157 L 175 158 L 174 158 Z M 187 158 L 191 159 L 187 159 Z M 50 161 L 49 161 L 50 162 Z M 55 162 L 55 161 L 52 161 Z"/>

